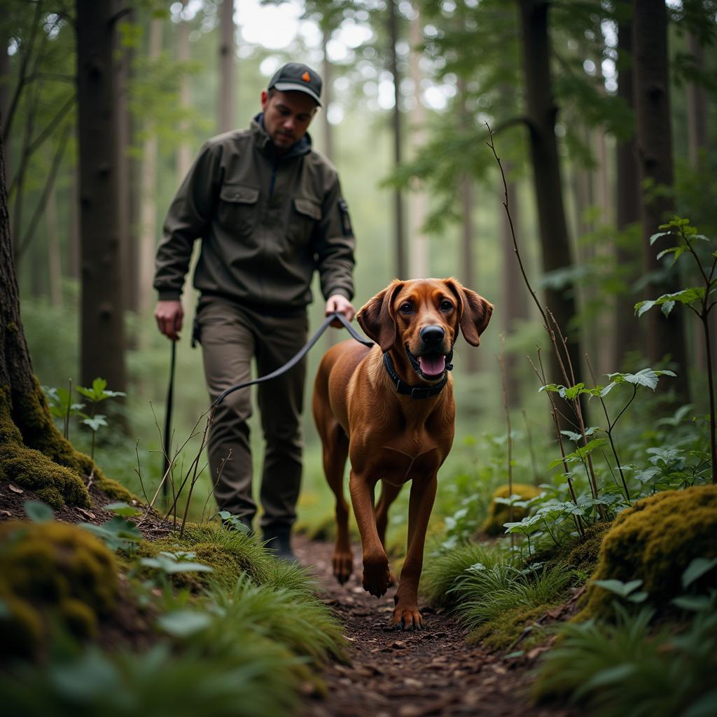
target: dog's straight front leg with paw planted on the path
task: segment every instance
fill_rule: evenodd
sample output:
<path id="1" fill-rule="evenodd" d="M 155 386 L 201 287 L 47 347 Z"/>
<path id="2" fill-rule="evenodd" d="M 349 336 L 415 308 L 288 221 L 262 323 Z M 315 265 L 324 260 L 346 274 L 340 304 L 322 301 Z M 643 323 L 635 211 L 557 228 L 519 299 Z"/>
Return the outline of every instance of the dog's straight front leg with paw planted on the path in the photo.
<path id="1" fill-rule="evenodd" d="M 401 571 L 399 587 L 394 595 L 393 627 L 420 630 L 423 617 L 418 609 L 418 582 L 423 568 L 423 548 L 426 542 L 428 519 L 436 497 L 437 478 L 414 478 L 408 513 L 408 550 Z"/>

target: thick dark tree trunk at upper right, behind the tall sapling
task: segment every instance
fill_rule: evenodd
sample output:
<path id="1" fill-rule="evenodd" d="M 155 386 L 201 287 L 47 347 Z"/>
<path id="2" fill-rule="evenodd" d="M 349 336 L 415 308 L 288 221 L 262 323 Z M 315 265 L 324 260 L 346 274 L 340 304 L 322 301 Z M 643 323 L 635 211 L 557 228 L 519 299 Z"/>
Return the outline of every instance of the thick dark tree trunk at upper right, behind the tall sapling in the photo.
<path id="1" fill-rule="evenodd" d="M 650 246 L 650 236 L 674 211 L 668 18 L 663 2 L 633 0 L 632 9 L 637 156 L 643 188 L 640 201 L 643 268 L 652 276 L 645 298 L 657 298 L 680 288 L 677 272 L 663 273 L 664 267 L 657 261 L 657 253 L 667 245 L 658 241 L 654 247 Z M 678 307 L 669 317 L 661 311 L 648 311 L 642 320 L 647 326 L 650 363 L 655 366 L 665 356 L 675 361 L 678 377 L 673 386 L 678 399 L 684 402 L 688 400 L 689 389 L 683 315 L 684 311 Z"/>

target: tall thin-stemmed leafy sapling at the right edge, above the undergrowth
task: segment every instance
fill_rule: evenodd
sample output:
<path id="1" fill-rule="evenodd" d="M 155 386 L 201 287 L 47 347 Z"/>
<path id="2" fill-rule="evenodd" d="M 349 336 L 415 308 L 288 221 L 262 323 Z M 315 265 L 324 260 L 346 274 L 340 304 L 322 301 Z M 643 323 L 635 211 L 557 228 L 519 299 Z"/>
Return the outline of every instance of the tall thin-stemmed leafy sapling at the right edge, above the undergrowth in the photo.
<path id="1" fill-rule="evenodd" d="M 709 315 L 717 304 L 713 294 L 717 291 L 717 250 L 708 254 L 708 261 L 703 264 L 699 244 L 706 242 L 707 250 L 712 249 L 715 242 L 704 234 L 698 234 L 697 229 L 690 225 L 689 219 L 673 217 L 667 224 L 660 224 L 663 232 L 657 232 L 650 237 L 650 245 L 655 244 L 661 237 L 675 237 L 678 244 L 661 251 L 657 259 L 673 255 L 673 264 L 683 255 L 690 255 L 695 261 L 698 274 L 702 280 L 701 285 L 690 286 L 672 294 L 663 294 L 653 300 L 639 301 L 635 304 L 635 312 L 642 316 L 645 312 L 659 306 L 665 316 L 670 315 L 678 303 L 690 309 L 700 320 L 705 336 L 705 352 L 707 359 L 707 381 L 710 404 L 710 452 L 712 457 L 712 483 L 717 483 L 717 416 L 715 408 L 714 368 L 710 337 Z"/>

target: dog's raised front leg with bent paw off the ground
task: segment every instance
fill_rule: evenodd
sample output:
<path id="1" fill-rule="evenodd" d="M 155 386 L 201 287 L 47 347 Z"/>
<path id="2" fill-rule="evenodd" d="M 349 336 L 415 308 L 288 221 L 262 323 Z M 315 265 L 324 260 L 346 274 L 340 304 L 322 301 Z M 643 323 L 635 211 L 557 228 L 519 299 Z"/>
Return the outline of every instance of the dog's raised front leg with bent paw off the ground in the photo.
<path id="1" fill-rule="evenodd" d="M 364 553 L 364 590 L 381 597 L 389 587 L 389 558 L 376 530 L 374 513 L 376 480 L 351 471 L 348 489 L 351 492 L 353 515 L 361 533 Z"/>

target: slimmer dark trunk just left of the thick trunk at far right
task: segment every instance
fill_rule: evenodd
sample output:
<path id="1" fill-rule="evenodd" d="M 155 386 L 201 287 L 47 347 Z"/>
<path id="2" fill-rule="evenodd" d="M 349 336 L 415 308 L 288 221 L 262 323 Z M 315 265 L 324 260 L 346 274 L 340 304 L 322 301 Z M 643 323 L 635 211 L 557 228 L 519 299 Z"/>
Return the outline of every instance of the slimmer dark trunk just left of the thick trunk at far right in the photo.
<path id="1" fill-rule="evenodd" d="M 625 0 L 623 0 L 625 3 Z M 632 20 L 626 19 L 617 27 L 617 95 L 633 108 L 635 97 L 632 77 Z M 625 232 L 640 221 L 640 191 L 637 178 L 637 151 L 635 136 L 630 139 L 618 139 L 615 147 L 617 165 L 617 231 Z M 635 296 L 632 287 L 637 280 L 637 266 L 640 262 L 640 247 L 625 241 L 618 241 L 615 247 L 617 266 L 623 269 L 622 279 L 625 290 L 615 298 L 615 341 L 614 370 L 622 371 L 627 353 L 637 351 L 642 345 L 640 329 L 642 322 L 635 318 Z M 635 368 L 635 367 L 632 367 Z"/>

